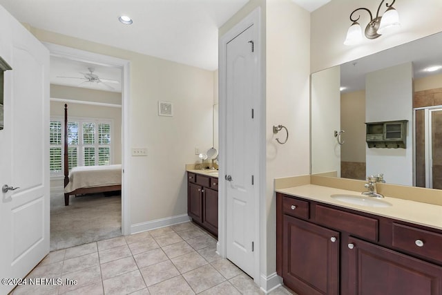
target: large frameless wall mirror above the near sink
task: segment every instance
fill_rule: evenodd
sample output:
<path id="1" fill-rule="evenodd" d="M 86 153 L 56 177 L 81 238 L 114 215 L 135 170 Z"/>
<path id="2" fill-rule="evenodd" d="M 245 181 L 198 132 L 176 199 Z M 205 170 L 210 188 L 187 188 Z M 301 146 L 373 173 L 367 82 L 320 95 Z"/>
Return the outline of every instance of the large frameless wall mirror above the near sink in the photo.
<path id="1" fill-rule="evenodd" d="M 440 48 L 442 32 L 313 73 L 311 173 L 442 189 Z M 365 123 L 398 120 L 406 149 L 368 148 Z"/>

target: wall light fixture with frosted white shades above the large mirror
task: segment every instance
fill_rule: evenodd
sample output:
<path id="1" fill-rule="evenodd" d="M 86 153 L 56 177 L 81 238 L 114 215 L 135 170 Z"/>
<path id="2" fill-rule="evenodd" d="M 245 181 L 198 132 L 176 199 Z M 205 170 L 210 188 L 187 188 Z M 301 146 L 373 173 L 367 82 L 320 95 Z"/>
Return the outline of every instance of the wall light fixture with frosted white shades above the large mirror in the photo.
<path id="1" fill-rule="evenodd" d="M 358 15 L 357 19 L 354 19 L 353 17 L 354 12 L 358 10 L 365 10 L 370 15 L 370 21 L 365 27 L 365 37 L 367 37 L 367 39 L 376 39 L 382 34 L 390 32 L 391 29 L 400 26 L 398 12 L 396 11 L 396 9 L 393 8 L 393 4 L 396 0 L 392 0 L 391 4 L 385 3 L 385 6 L 387 6 L 387 10 L 385 10 L 383 16 L 379 16 L 379 10 L 381 10 L 381 6 L 384 1 L 385 0 L 382 0 L 381 4 L 379 4 L 375 18 L 373 18 L 372 12 L 365 7 L 353 10 L 353 12 L 350 14 L 350 21 L 352 21 L 353 23 L 347 31 L 347 38 L 344 41 L 345 45 L 355 45 L 363 39 L 362 28 L 361 25 L 358 23 L 361 15 Z"/>

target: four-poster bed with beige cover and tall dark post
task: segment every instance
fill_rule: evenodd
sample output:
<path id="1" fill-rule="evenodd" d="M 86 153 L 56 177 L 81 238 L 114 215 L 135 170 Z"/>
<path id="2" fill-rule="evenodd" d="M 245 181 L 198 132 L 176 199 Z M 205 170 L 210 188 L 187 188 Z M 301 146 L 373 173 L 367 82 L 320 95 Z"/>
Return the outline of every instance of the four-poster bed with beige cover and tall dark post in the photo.
<path id="1" fill-rule="evenodd" d="M 122 165 L 68 166 L 68 105 L 64 105 L 64 204 L 70 195 L 102 193 L 122 189 Z"/>

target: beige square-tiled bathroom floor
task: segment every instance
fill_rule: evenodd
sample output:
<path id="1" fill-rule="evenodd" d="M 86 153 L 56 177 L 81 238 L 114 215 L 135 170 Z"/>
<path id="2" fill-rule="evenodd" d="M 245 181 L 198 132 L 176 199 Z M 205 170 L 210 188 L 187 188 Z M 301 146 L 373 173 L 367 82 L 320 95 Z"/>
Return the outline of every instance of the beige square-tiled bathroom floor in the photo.
<path id="1" fill-rule="evenodd" d="M 12 294 L 264 294 L 215 249 L 216 240 L 191 222 L 100 240 L 50 252 L 27 277 L 63 285 L 19 286 Z M 271 294 L 294 293 L 279 287 Z"/>

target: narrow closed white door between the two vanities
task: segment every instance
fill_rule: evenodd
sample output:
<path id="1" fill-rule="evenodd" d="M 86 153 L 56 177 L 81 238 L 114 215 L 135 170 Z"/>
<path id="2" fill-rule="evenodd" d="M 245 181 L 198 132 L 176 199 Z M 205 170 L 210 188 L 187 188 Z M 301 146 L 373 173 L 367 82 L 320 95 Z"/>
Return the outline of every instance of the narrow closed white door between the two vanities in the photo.
<path id="1" fill-rule="evenodd" d="M 226 198 L 227 258 L 254 276 L 255 212 L 258 190 L 257 53 L 253 25 L 227 44 Z"/>

